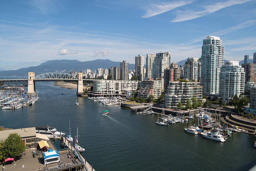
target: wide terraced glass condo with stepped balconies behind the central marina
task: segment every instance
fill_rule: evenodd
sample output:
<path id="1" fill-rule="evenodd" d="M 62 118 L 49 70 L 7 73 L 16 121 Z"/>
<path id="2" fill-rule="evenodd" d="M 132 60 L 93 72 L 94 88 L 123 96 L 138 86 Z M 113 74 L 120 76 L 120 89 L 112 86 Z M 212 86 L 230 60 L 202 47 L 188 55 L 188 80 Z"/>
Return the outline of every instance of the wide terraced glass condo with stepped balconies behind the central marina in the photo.
<path id="1" fill-rule="evenodd" d="M 202 99 L 202 86 L 199 82 L 170 82 L 164 97 L 166 108 L 177 109 L 177 105 L 181 101 L 186 104 L 187 99 Z"/>

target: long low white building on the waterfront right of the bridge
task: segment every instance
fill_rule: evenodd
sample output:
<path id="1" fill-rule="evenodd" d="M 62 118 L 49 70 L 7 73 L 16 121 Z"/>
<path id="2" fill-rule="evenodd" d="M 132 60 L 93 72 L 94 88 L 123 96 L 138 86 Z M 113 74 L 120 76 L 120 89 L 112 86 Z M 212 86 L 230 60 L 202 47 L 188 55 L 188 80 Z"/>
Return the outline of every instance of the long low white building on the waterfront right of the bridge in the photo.
<path id="1" fill-rule="evenodd" d="M 138 81 L 125 80 L 96 80 L 93 81 L 94 94 L 120 94 L 138 88 Z"/>

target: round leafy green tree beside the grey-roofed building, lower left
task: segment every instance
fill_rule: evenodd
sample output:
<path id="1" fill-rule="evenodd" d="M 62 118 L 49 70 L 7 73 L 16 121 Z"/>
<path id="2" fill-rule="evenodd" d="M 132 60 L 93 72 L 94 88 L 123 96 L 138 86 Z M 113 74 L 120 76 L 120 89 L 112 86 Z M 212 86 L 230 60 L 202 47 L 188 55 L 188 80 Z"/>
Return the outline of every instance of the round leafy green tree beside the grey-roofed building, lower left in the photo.
<path id="1" fill-rule="evenodd" d="M 10 133 L 4 140 L 4 153 L 7 157 L 18 157 L 25 149 L 26 145 L 18 133 Z"/>

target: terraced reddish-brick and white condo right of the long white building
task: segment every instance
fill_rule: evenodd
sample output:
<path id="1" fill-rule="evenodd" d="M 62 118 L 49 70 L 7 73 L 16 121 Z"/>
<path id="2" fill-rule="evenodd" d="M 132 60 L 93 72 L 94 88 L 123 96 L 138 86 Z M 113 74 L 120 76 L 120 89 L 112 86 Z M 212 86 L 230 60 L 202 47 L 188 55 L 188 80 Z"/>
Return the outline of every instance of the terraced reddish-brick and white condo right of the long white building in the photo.
<path id="1" fill-rule="evenodd" d="M 148 79 L 142 82 L 138 97 L 148 99 L 150 95 L 153 95 L 154 99 L 161 95 L 161 80 Z"/>

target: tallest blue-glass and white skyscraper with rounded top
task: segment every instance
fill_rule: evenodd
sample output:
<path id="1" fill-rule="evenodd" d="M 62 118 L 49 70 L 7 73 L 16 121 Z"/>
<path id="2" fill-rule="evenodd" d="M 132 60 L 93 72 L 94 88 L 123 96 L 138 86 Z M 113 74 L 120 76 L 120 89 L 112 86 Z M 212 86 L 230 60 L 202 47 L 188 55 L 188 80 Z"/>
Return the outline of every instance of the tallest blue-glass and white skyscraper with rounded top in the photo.
<path id="1" fill-rule="evenodd" d="M 220 68 L 224 64 L 224 46 L 216 36 L 203 40 L 201 56 L 201 80 L 204 95 L 219 93 Z"/>

